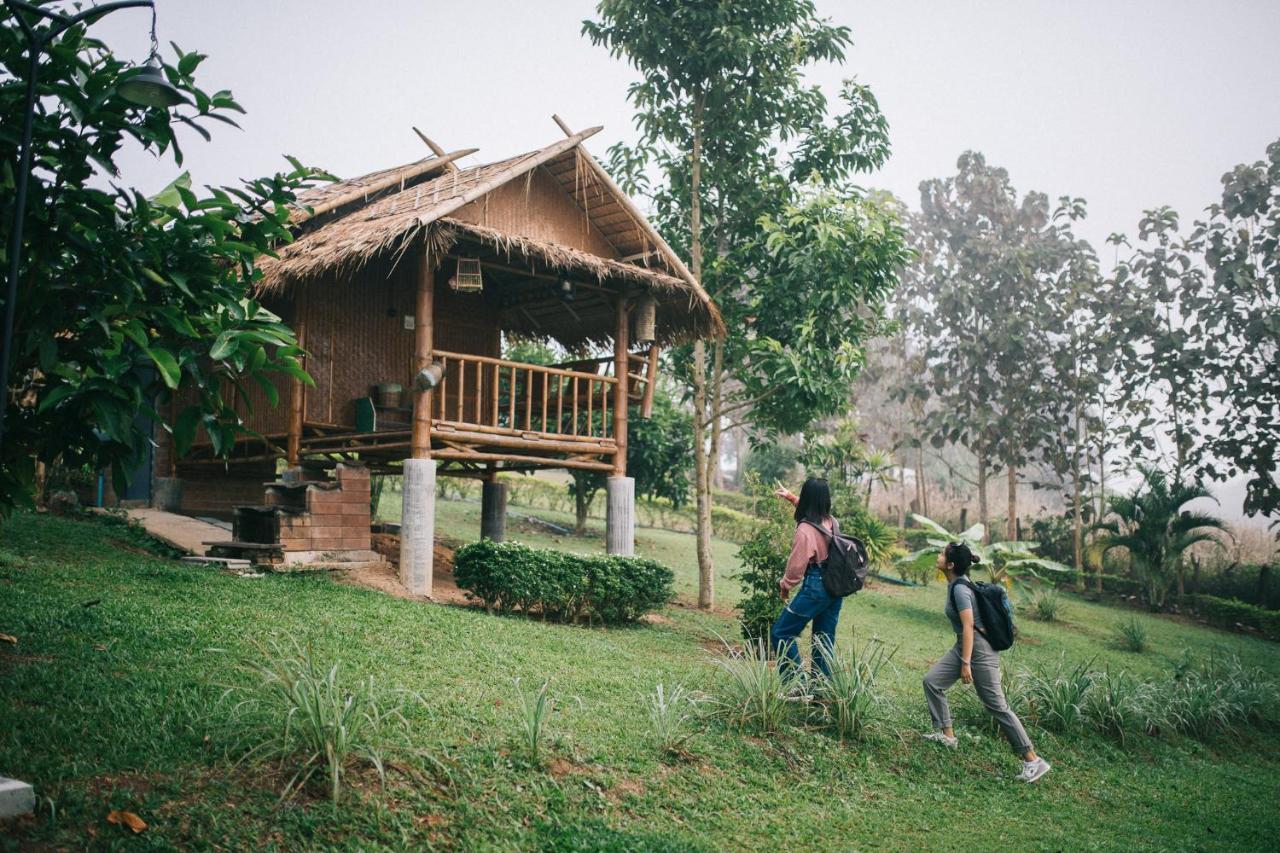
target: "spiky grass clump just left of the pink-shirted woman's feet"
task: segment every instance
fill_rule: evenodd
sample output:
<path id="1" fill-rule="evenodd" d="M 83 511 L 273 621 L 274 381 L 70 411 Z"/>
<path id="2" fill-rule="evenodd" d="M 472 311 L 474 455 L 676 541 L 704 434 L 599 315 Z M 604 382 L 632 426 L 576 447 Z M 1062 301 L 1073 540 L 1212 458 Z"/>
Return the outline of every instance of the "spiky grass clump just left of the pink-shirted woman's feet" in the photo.
<path id="1" fill-rule="evenodd" d="M 726 644 L 716 657 L 721 678 L 712 685 L 712 712 L 735 729 L 777 731 L 790 713 L 788 684 L 771 658 L 764 638 Z"/>

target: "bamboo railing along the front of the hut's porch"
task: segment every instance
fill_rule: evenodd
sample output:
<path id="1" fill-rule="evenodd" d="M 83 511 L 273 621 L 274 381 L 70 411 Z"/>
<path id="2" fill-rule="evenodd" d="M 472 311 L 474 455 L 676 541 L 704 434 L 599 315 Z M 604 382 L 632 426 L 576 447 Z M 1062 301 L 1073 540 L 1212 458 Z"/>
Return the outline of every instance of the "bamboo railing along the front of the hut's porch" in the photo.
<path id="1" fill-rule="evenodd" d="M 435 423 L 570 443 L 613 438 L 611 375 L 440 350 L 433 357 L 444 366 L 431 394 Z"/>

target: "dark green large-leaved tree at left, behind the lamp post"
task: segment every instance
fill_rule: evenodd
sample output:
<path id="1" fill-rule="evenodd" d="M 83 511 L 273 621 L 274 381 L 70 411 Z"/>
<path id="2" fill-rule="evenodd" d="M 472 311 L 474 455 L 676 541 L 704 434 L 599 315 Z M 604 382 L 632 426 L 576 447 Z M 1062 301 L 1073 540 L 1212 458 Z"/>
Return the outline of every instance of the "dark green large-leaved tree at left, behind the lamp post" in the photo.
<path id="1" fill-rule="evenodd" d="M 291 169 L 241 187 L 197 193 L 180 174 L 159 196 L 110 184 L 127 142 L 156 156 L 182 150 L 175 131 L 233 124 L 243 111 L 230 92 L 207 93 L 193 74 L 205 59 L 175 49 L 164 65 L 188 104 L 173 111 L 140 108 L 119 93 L 137 70 L 84 27 L 68 29 L 40 69 L 33 124 L 35 173 L 27 200 L 23 264 L 15 302 L 12 374 L 0 459 L 0 515 L 29 501 L 35 464 L 59 456 L 68 465 L 125 471 L 151 441 L 145 415 L 174 433 L 183 450 L 204 430 L 219 452 L 243 432 L 236 400 L 243 386 L 276 396 L 273 373 L 307 380 L 293 333 L 251 297 L 255 257 L 289 240 L 288 205 L 320 175 Z M 13 18 L 0 26 L 0 67 L 22 79 L 26 46 Z M 0 86 L 0 245 L 12 227 L 13 174 L 23 87 Z M 195 402 L 165 420 L 164 403 L 195 392 Z"/>

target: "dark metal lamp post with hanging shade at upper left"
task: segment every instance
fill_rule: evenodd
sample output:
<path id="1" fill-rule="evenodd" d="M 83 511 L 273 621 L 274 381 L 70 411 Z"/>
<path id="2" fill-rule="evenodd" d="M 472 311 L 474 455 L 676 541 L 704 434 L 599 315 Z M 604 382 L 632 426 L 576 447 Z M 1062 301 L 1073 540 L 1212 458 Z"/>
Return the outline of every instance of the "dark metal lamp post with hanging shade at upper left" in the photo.
<path id="1" fill-rule="evenodd" d="M 186 99 L 165 79 L 156 64 L 156 23 L 154 0 L 116 0 L 84 9 L 74 15 L 45 9 L 22 0 L 4 0 L 27 40 L 27 100 L 22 114 L 22 142 L 18 146 L 18 172 L 14 175 L 13 231 L 9 233 L 9 277 L 4 298 L 4 343 L 0 348 L 0 448 L 4 447 L 4 421 L 9 410 L 9 362 L 13 357 L 13 320 L 18 301 L 18 269 L 22 261 L 22 227 L 27 216 L 27 183 L 31 179 L 31 136 L 36 118 L 36 78 L 40 55 L 54 38 L 81 22 L 93 22 L 118 9 L 145 6 L 151 9 L 151 56 L 147 67 L 123 81 L 120 96 L 140 106 L 174 106 Z M 26 15 L 50 22 L 36 29 Z"/>

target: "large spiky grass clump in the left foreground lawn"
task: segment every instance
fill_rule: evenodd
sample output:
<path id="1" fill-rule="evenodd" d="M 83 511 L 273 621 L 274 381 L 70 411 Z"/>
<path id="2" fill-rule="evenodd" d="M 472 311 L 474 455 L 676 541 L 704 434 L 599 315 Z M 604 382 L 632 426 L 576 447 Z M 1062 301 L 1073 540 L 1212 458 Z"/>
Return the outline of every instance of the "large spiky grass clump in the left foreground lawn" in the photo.
<path id="1" fill-rule="evenodd" d="M 384 754 L 407 743 L 408 722 L 397 698 L 375 690 L 374 680 L 348 686 L 339 665 L 320 663 L 310 651 L 273 644 L 264 660 L 244 669 L 248 686 L 232 688 L 230 722 L 237 736 L 256 742 L 242 761 L 271 758 L 293 776 L 282 799 L 323 776 L 334 802 L 352 765 L 365 762 L 385 784 Z"/>

